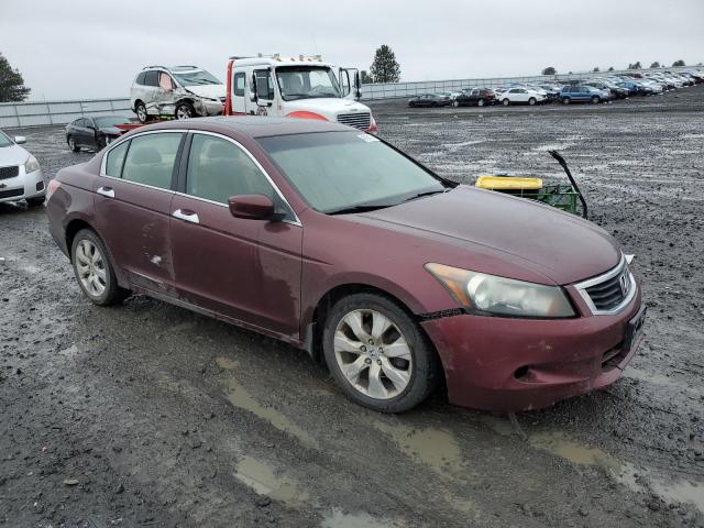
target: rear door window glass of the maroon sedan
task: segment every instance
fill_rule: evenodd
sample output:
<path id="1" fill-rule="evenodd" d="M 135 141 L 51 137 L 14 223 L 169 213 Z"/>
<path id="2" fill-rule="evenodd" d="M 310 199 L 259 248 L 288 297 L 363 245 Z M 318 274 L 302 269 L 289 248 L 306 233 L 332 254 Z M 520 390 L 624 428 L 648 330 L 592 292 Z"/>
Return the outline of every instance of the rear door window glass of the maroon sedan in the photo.
<path id="1" fill-rule="evenodd" d="M 133 138 L 124 160 L 122 179 L 160 189 L 170 188 L 182 136 L 179 132 L 162 132 Z"/>

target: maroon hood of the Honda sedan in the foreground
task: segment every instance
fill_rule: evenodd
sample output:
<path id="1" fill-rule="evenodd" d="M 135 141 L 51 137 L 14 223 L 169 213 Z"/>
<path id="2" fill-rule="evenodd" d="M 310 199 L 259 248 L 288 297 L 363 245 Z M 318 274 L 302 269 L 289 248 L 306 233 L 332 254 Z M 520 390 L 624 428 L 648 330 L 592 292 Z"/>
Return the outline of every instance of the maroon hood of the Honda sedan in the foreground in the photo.
<path id="1" fill-rule="evenodd" d="M 591 222 L 525 198 L 468 186 L 356 217 L 468 251 L 462 262 L 447 262 L 442 254 L 428 255 L 428 262 L 469 267 L 471 253 L 479 251 L 488 254 L 490 261 L 542 276 L 536 282 L 543 284 L 583 280 L 613 268 L 622 257 L 614 239 Z M 491 268 L 475 271 L 492 273 Z"/>

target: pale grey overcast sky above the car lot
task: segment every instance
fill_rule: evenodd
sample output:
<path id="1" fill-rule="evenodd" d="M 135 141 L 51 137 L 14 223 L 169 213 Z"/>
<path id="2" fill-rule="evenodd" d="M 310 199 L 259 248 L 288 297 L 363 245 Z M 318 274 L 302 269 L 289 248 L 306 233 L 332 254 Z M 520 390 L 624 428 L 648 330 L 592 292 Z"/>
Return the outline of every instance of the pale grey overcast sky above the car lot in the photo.
<path id="1" fill-rule="evenodd" d="M 0 0 L 0 52 L 32 99 L 128 97 L 151 64 L 223 78 L 230 55 L 320 53 L 369 69 L 388 44 L 402 80 L 704 61 L 704 0 Z"/>

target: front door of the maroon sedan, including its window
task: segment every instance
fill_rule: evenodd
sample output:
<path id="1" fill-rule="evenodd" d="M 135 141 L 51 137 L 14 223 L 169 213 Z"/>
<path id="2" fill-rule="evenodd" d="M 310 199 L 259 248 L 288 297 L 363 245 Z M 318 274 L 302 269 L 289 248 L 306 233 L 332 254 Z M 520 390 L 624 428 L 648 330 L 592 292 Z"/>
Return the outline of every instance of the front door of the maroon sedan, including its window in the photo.
<path id="1" fill-rule="evenodd" d="M 170 238 L 179 298 L 257 328 L 298 338 L 302 228 L 258 163 L 233 140 L 193 133 Z M 228 199 L 265 195 L 286 220 L 248 220 Z"/>

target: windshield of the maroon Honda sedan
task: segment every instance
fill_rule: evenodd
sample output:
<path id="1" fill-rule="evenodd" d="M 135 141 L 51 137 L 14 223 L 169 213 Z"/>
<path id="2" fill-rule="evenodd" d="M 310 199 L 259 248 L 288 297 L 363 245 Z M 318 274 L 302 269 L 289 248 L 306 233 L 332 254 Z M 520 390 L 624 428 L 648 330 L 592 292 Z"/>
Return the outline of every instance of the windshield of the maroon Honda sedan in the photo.
<path id="1" fill-rule="evenodd" d="M 360 132 L 260 138 L 258 143 L 310 206 L 332 213 L 391 207 L 442 183 L 373 135 Z"/>

